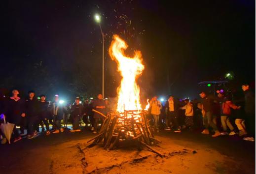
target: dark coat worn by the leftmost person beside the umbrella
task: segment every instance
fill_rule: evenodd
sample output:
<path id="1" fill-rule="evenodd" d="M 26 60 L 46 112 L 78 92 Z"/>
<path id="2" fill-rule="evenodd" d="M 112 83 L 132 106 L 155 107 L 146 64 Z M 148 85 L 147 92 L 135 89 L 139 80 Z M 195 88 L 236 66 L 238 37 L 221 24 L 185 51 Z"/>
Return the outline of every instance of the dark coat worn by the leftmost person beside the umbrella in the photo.
<path id="1" fill-rule="evenodd" d="M 4 102 L 3 114 L 6 116 L 6 121 L 13 124 L 19 124 L 21 114 L 25 113 L 25 101 L 18 97 L 15 101 L 13 97 L 8 98 Z"/>

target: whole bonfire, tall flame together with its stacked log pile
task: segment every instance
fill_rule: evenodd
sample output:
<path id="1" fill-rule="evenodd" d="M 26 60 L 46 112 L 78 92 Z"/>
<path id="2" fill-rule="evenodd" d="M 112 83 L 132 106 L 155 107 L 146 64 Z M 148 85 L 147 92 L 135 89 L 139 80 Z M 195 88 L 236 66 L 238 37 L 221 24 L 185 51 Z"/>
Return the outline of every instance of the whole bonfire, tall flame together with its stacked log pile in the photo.
<path id="1" fill-rule="evenodd" d="M 119 36 L 114 35 L 111 42 L 109 54 L 118 65 L 118 71 L 122 76 L 121 84 L 117 88 L 118 103 L 115 112 L 105 117 L 99 134 L 88 141 L 94 141 L 92 145 L 103 142 L 105 149 L 113 149 L 124 143 L 132 143 L 142 149 L 145 145 L 151 151 L 158 153 L 149 145 L 160 142 L 154 138 L 153 132 L 146 120 L 146 112 L 140 103 L 140 87 L 136 81 L 144 70 L 142 54 L 135 51 L 134 57 L 130 58 L 124 54 L 128 45 Z M 97 112 L 94 110 L 94 112 Z"/>

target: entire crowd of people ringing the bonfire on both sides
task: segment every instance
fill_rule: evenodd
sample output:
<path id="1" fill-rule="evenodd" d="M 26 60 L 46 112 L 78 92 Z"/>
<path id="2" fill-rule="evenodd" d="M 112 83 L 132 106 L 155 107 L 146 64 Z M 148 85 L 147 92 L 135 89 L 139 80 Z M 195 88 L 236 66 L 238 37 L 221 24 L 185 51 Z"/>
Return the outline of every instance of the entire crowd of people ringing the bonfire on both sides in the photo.
<path id="1" fill-rule="evenodd" d="M 147 119 L 155 132 L 165 129 L 179 133 L 185 129 L 197 129 L 202 130 L 202 134 L 213 134 L 212 137 L 238 134 L 243 140 L 255 141 L 255 94 L 248 84 L 243 84 L 242 90 L 244 98 L 235 101 L 223 90 L 216 91 L 217 96 L 202 91 L 199 94 L 201 99 L 193 101 L 179 100 L 170 95 L 166 102 L 161 102 L 154 96 L 149 102 Z M 109 101 L 98 94 L 93 101 L 86 99 L 82 103 L 76 97 L 72 105 L 63 104 L 58 95 L 55 95 L 53 102 L 49 102 L 45 95 L 37 98 L 34 91 L 29 91 L 25 100 L 14 89 L 11 97 L 2 97 L 0 100 L 0 124 L 14 124 L 14 143 L 24 138 L 36 138 L 41 133 L 50 135 L 67 130 L 79 132 L 82 122 L 85 128 L 97 133 L 101 125 L 99 123 L 105 117 L 93 110 L 108 113 L 111 110 Z M 72 123 L 72 129 L 68 129 L 69 122 Z M 7 143 L 2 131 L 0 135 L 1 144 Z"/>

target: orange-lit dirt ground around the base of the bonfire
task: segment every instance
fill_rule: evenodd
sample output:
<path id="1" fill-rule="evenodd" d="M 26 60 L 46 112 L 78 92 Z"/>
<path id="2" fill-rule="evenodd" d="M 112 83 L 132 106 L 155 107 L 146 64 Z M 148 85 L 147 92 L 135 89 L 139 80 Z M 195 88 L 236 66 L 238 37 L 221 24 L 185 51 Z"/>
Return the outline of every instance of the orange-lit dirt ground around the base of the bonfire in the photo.
<path id="1" fill-rule="evenodd" d="M 255 161 L 243 165 L 243 159 L 197 142 L 156 136 L 162 143 L 153 148 L 164 155 L 161 158 L 146 148 L 142 151 L 105 150 L 99 145 L 88 148 L 86 142 L 90 138 L 30 149 L 21 145 L 23 152 L 19 158 L 12 155 L 5 158 L 12 161 L 8 164 L 8 174 L 255 174 Z"/>

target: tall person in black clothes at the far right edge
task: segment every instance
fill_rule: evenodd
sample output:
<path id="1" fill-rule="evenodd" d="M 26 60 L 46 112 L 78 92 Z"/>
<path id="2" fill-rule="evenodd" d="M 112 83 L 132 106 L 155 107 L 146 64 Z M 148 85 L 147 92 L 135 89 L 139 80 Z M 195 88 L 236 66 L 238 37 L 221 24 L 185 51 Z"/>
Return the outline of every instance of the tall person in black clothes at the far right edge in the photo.
<path id="1" fill-rule="evenodd" d="M 246 141 L 255 141 L 255 94 L 250 90 L 249 84 L 242 85 L 245 94 L 245 125 L 248 132 Z"/>

